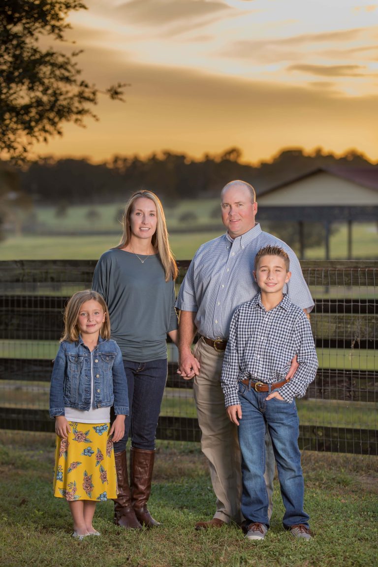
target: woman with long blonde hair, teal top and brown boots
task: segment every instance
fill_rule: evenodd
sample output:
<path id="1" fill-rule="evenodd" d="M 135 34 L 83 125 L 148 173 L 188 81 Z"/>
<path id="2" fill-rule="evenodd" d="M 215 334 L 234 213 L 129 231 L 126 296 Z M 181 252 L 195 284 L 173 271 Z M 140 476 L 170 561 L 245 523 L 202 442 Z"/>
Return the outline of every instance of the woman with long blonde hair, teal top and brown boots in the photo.
<path id="1" fill-rule="evenodd" d="M 177 266 L 168 244 L 161 202 L 150 191 L 126 205 L 120 244 L 98 261 L 92 287 L 108 304 L 112 338 L 120 346 L 130 415 L 114 443 L 118 497 L 114 521 L 127 529 L 158 526 L 147 508 L 155 458 L 155 434 L 167 379 L 167 334 L 177 345 Z M 126 442 L 131 438 L 130 485 Z"/>

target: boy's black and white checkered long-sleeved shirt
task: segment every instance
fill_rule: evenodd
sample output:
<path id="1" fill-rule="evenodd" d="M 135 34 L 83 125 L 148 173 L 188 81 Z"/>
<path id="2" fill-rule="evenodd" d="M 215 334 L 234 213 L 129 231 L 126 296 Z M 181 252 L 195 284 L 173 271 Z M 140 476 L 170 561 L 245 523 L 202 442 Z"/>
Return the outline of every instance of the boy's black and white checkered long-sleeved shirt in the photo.
<path id="1" fill-rule="evenodd" d="M 262 305 L 261 294 L 240 305 L 232 316 L 224 353 L 221 383 L 226 407 L 240 403 L 238 380 L 281 382 L 295 354 L 298 370 L 276 390 L 288 403 L 303 397 L 315 378 L 318 362 L 310 322 L 288 295 L 270 311 Z"/>

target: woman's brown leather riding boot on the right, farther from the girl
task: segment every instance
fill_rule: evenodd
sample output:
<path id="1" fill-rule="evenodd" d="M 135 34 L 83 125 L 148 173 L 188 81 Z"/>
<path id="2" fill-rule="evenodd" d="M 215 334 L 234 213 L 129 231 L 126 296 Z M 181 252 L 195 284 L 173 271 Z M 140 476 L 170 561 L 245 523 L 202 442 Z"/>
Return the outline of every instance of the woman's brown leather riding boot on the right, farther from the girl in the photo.
<path id="1" fill-rule="evenodd" d="M 136 447 L 130 448 L 130 489 L 131 502 L 139 522 L 147 528 L 160 526 L 152 518 L 147 508 L 151 494 L 152 471 L 154 469 L 155 449 L 145 451 Z"/>

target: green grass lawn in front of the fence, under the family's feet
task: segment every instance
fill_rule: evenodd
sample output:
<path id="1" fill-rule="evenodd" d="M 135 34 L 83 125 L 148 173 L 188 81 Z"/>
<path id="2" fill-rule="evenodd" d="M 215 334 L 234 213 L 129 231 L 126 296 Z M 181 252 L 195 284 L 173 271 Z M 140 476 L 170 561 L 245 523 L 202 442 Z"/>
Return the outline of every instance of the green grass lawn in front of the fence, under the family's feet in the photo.
<path id="1" fill-rule="evenodd" d="M 0 431 L 0 561 L 4 567 L 372 567 L 377 557 L 376 458 L 303 452 L 305 510 L 315 534 L 283 531 L 275 479 L 271 528 L 264 541 L 236 526 L 196 532 L 215 510 L 207 464 L 197 443 L 158 442 L 150 509 L 159 528 L 125 531 L 112 502 L 97 505 L 99 538 L 71 538 L 63 500 L 52 496 L 54 435 Z"/>

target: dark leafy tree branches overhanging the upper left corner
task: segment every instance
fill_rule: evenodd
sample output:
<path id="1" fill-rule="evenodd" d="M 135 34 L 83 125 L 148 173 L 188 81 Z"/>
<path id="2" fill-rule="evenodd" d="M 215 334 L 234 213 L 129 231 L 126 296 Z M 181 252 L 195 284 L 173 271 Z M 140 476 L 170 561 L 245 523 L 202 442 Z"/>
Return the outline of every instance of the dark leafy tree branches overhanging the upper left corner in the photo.
<path id="1" fill-rule="evenodd" d="M 99 89 L 80 77 L 80 51 L 67 56 L 45 48 L 46 37 L 65 41 L 70 11 L 84 10 L 77 0 L 7 0 L 0 3 L 0 156 L 20 162 L 32 146 L 62 135 L 62 125 L 97 120 L 92 107 Z M 105 94 L 122 100 L 125 83 Z"/>

